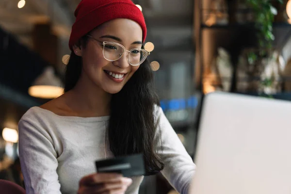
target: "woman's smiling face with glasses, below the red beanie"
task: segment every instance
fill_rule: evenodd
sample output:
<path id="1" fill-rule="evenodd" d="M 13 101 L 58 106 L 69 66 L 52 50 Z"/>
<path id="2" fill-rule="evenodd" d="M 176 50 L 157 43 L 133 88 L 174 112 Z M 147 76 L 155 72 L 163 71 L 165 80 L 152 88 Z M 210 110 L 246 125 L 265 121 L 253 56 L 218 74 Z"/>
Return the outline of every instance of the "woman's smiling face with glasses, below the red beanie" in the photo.
<path id="1" fill-rule="evenodd" d="M 105 22 L 88 32 L 81 38 L 78 45 L 72 46 L 74 54 L 82 57 L 82 72 L 86 76 L 81 72 L 81 79 L 89 78 L 90 83 L 96 84 L 107 94 L 118 93 L 140 65 L 144 65 L 142 63 L 148 54 L 146 50 L 141 49 L 142 41 L 141 26 L 137 22 L 125 18 Z M 68 68 L 69 65 L 70 61 Z M 112 72 L 114 78 L 109 76 L 106 71 Z M 123 79 L 116 79 L 116 74 L 123 74 Z"/>

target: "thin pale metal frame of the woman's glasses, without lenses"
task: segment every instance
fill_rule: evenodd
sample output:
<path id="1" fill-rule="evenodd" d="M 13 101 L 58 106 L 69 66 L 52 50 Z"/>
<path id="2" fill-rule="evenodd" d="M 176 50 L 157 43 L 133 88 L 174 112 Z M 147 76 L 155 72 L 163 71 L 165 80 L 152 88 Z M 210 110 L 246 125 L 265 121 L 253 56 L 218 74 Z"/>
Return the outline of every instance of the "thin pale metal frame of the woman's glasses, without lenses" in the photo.
<path id="1" fill-rule="evenodd" d="M 141 65 L 142 63 L 144 63 L 144 61 L 146 60 L 147 56 L 150 54 L 150 52 L 147 51 L 146 49 L 130 49 L 130 50 L 126 50 L 125 47 L 124 47 L 123 45 L 119 44 L 119 43 L 111 42 L 111 41 L 103 41 L 103 42 L 102 42 L 102 41 L 97 40 L 96 38 L 94 38 L 93 36 L 91 36 L 91 35 L 89 35 L 89 34 L 87 34 L 87 36 L 88 36 L 89 38 L 92 38 L 93 40 L 99 42 L 99 43 L 102 43 L 102 45 L 103 45 L 103 51 L 102 51 L 102 54 L 103 54 L 104 59 L 106 59 L 106 57 L 105 57 L 105 55 L 104 55 L 104 47 L 106 46 L 106 44 L 115 44 L 115 45 L 118 45 L 118 46 L 120 46 L 121 48 L 123 48 L 123 52 L 120 53 L 120 56 L 119 56 L 118 59 L 115 59 L 115 60 L 109 60 L 109 59 L 106 59 L 107 61 L 111 61 L 111 62 L 113 62 L 113 61 L 117 61 L 117 60 L 119 60 L 119 59 L 123 56 L 123 54 L 124 54 L 125 52 L 129 52 L 129 54 L 130 54 L 130 52 L 133 51 L 133 50 L 145 51 L 145 52 L 146 52 L 146 57 L 145 57 L 142 61 L 140 61 L 140 63 L 138 63 L 137 65 L 131 64 L 131 63 L 129 62 L 129 54 L 128 54 L 128 56 L 127 56 L 127 61 L 128 61 L 128 63 L 129 63 L 129 65 L 132 65 L 132 66 L 138 66 L 138 65 Z"/>

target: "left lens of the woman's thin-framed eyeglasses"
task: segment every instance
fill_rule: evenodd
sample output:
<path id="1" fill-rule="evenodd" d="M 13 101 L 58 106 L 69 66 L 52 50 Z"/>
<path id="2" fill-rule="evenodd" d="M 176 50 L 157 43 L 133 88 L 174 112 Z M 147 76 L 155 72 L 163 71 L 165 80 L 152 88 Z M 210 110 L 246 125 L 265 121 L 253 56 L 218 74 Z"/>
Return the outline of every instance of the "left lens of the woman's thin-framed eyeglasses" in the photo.
<path id="1" fill-rule="evenodd" d="M 104 58 L 109 61 L 118 60 L 124 52 L 123 47 L 114 43 L 105 43 L 103 48 Z"/>

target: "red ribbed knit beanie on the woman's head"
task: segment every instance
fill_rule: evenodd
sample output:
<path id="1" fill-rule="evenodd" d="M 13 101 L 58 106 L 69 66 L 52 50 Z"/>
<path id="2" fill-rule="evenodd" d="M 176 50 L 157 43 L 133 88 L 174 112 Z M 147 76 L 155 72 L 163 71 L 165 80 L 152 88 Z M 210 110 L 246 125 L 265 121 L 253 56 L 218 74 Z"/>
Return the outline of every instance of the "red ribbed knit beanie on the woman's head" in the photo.
<path id="1" fill-rule="evenodd" d="M 116 18 L 137 22 L 146 39 L 146 22 L 141 10 L 131 0 L 81 0 L 75 11 L 76 21 L 72 26 L 69 47 L 100 24 Z"/>

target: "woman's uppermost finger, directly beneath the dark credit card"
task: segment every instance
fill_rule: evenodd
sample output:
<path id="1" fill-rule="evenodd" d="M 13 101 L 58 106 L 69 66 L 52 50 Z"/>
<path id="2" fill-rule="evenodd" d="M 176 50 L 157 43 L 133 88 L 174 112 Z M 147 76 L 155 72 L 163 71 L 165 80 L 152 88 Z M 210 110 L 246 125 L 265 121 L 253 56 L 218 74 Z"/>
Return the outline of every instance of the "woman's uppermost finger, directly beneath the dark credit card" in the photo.
<path id="1" fill-rule="evenodd" d="M 120 174 L 113 173 L 95 173 L 81 178 L 79 184 L 81 185 L 91 185 L 96 183 L 113 181 L 114 179 L 122 178 Z"/>

